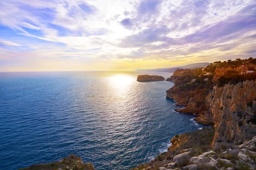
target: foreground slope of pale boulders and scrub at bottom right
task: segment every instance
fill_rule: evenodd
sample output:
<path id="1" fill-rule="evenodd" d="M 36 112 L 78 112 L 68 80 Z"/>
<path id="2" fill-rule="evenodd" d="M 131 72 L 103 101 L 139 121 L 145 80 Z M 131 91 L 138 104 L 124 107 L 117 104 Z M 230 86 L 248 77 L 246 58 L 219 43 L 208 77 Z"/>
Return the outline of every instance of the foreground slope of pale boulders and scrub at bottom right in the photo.
<path id="1" fill-rule="evenodd" d="M 256 136 L 240 145 L 211 146 L 214 128 L 176 135 L 167 152 L 131 170 L 255 170 Z"/>

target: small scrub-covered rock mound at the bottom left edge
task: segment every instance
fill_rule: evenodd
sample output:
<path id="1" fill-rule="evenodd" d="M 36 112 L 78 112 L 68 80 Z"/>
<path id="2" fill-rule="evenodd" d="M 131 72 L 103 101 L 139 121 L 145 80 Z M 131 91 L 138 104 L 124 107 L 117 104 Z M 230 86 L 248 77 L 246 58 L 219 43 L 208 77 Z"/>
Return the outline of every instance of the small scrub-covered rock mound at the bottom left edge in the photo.
<path id="1" fill-rule="evenodd" d="M 91 163 L 85 164 L 75 154 L 49 164 L 34 164 L 19 170 L 95 170 Z"/>

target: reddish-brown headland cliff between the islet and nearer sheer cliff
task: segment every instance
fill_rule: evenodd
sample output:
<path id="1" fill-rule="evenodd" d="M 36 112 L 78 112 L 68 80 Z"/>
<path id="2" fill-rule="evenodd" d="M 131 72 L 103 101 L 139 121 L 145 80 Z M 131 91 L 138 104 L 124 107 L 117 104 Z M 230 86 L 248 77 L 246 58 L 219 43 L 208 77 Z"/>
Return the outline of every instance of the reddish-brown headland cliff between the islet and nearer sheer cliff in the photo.
<path id="1" fill-rule="evenodd" d="M 166 91 L 166 97 L 174 99 L 179 106 L 186 106 L 183 109 L 175 109 L 181 113 L 193 113 L 199 117 L 196 119 L 198 123 L 212 125 L 212 113 L 206 112 L 202 114 L 204 110 L 208 108 L 205 98 L 208 93 L 209 85 L 208 82 L 198 80 L 193 82 L 196 78 L 196 70 L 176 70 L 169 80 L 175 82 L 175 85 Z M 198 77 L 201 79 L 201 77 Z M 202 86 L 198 84 L 201 83 Z"/>

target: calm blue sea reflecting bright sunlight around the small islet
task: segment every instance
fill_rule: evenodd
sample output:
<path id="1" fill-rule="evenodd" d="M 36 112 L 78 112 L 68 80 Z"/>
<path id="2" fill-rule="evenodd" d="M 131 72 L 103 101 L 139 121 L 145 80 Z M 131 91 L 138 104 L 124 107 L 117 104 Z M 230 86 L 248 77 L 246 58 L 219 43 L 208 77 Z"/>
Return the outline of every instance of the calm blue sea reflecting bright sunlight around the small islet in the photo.
<path id="1" fill-rule="evenodd" d="M 137 82 L 142 72 L 0 73 L 0 169 L 70 153 L 96 170 L 128 170 L 198 130 L 166 99 L 173 82 Z M 148 73 L 167 78 L 170 73 Z"/>

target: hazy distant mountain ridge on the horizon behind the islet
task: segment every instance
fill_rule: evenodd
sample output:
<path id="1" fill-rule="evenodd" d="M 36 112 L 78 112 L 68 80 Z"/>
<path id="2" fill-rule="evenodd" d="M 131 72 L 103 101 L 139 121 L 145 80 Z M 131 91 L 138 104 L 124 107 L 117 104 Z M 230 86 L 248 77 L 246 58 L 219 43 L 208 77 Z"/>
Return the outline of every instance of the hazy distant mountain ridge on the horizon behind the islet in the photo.
<path id="1" fill-rule="evenodd" d="M 177 69 L 192 69 L 192 68 L 200 68 L 200 67 L 206 67 L 209 65 L 209 62 L 199 62 L 195 64 L 189 64 L 184 66 L 178 66 L 178 67 L 172 67 L 172 68 L 155 68 L 155 69 L 138 69 L 137 71 L 150 71 L 150 72 L 169 72 L 173 73 Z"/>

